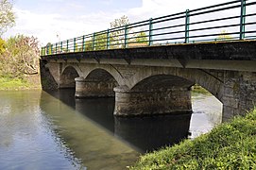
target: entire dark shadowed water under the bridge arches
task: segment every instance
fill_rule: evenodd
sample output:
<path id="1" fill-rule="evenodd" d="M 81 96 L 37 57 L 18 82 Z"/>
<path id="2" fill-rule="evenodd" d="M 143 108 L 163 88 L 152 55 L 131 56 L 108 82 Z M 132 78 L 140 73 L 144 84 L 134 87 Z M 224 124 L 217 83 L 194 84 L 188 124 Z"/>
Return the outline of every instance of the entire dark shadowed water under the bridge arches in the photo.
<path id="1" fill-rule="evenodd" d="M 66 104 L 73 105 L 74 90 L 55 93 Z M 76 99 L 76 111 L 114 136 L 133 145 L 141 152 L 175 144 L 187 138 L 191 114 L 155 117 L 114 117 L 114 98 Z"/>

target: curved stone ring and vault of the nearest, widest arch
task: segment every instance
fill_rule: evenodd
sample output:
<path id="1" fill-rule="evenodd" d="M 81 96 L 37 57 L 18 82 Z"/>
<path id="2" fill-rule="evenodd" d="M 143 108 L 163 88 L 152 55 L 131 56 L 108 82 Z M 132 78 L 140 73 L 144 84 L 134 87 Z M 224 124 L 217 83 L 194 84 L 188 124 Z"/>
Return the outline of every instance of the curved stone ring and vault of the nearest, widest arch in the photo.
<path id="1" fill-rule="evenodd" d="M 171 80 L 172 78 L 178 81 L 176 85 L 183 84 L 183 87 L 190 87 L 196 83 L 212 93 L 218 100 L 223 102 L 222 97 L 224 83 L 217 77 L 203 70 L 197 69 L 158 68 L 152 70 L 150 68 L 145 68 L 144 71 L 140 71 L 129 80 L 129 82 L 132 82 L 132 84 L 129 84 L 129 88 L 137 89 L 140 86 L 142 87 L 143 84 L 150 84 L 150 82 L 152 84 L 151 86 L 154 86 L 154 83 L 156 83 L 156 86 L 159 87 L 162 85 L 161 83 L 165 84 L 163 86 L 167 86 L 175 83 Z"/>

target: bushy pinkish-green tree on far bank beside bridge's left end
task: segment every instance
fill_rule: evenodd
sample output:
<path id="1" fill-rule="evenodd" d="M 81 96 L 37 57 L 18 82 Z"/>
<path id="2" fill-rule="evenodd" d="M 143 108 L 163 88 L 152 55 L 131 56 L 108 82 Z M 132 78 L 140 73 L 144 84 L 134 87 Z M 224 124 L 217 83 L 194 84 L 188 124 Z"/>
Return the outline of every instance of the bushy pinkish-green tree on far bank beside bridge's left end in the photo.
<path id="1" fill-rule="evenodd" d="M 1 75 L 22 77 L 39 72 L 39 42 L 36 38 L 18 35 L 10 37 L 6 52 L 0 55 Z"/>

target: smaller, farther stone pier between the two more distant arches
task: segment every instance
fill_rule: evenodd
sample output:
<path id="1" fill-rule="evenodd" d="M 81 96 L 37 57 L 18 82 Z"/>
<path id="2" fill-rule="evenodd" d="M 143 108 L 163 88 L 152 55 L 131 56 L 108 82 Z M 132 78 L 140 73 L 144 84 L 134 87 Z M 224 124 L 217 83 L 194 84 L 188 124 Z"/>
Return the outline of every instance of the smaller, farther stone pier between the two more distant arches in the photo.
<path id="1" fill-rule="evenodd" d="M 114 81 L 99 81 L 97 79 L 86 79 L 77 77 L 76 93 L 77 98 L 114 97 Z"/>

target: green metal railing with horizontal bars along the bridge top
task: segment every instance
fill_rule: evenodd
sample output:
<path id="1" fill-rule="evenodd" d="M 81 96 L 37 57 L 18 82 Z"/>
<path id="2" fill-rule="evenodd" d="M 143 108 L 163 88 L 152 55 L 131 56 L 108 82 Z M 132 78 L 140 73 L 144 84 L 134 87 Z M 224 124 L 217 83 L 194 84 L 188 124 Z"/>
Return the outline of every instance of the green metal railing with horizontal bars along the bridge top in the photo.
<path id="1" fill-rule="evenodd" d="M 41 55 L 251 39 L 256 39 L 256 0 L 235 0 L 47 44 Z"/>

